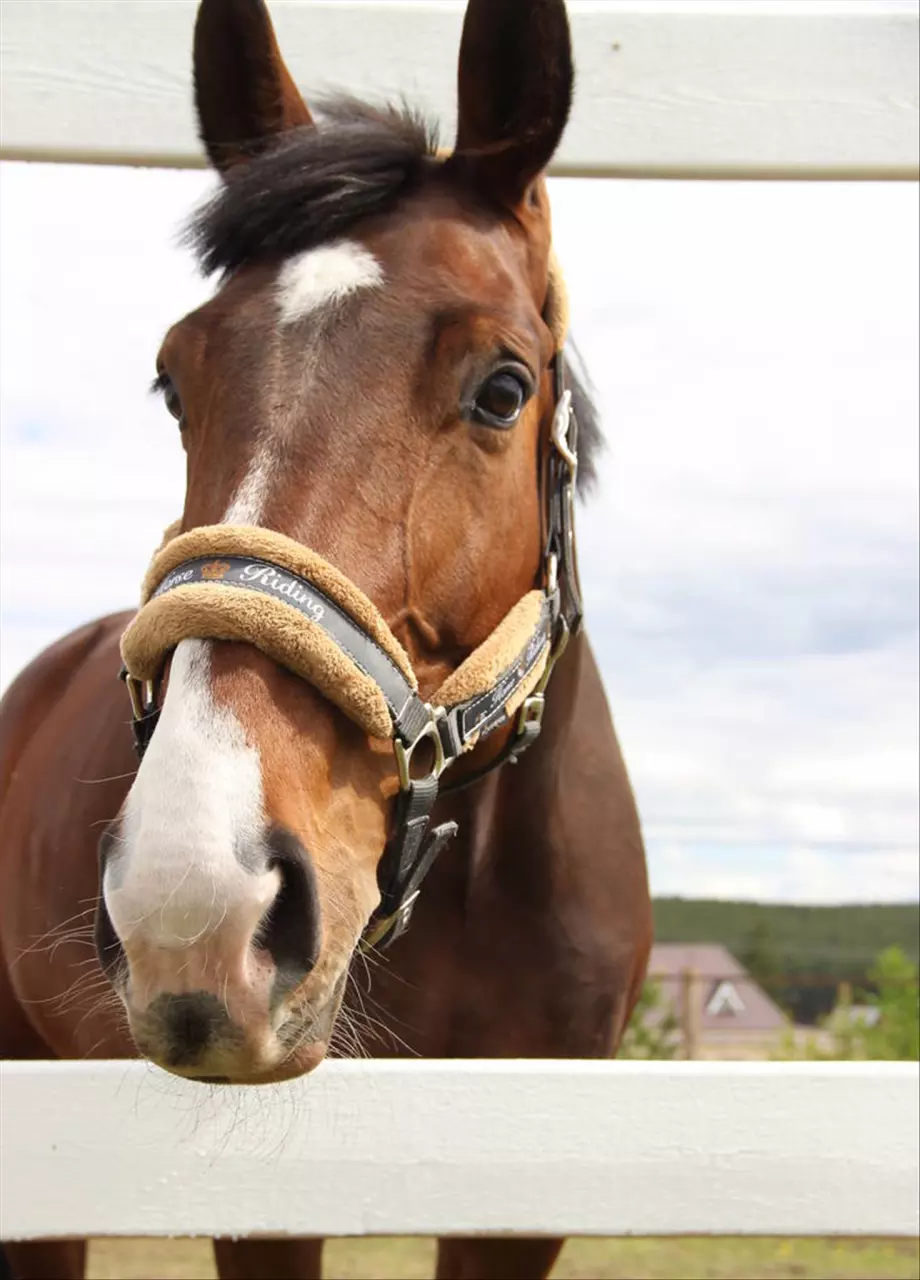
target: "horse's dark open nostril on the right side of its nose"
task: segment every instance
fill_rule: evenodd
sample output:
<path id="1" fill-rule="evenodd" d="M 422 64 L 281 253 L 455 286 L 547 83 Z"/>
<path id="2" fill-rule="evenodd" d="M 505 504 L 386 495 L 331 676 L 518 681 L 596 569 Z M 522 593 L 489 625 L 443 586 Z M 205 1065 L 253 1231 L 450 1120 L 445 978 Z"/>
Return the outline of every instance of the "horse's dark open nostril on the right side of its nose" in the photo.
<path id="1" fill-rule="evenodd" d="M 258 941 L 278 970 L 278 984 L 296 987 L 320 956 L 320 901 L 306 849 L 284 827 L 269 835 L 269 867 L 276 867 L 282 887 L 258 931 Z"/>

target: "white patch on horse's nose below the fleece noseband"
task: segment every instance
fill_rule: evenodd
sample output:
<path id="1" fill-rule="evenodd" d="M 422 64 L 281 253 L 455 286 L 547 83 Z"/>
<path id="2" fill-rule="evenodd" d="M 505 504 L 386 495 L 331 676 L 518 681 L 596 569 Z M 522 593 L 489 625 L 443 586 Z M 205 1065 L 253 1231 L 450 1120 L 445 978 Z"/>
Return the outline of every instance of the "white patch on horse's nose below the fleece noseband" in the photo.
<path id="1" fill-rule="evenodd" d="M 102 886 L 125 945 L 189 947 L 225 923 L 248 937 L 279 887 L 276 870 L 258 869 L 258 753 L 215 704 L 210 667 L 209 641 L 178 645 L 160 722 L 128 792 L 123 845 Z"/>

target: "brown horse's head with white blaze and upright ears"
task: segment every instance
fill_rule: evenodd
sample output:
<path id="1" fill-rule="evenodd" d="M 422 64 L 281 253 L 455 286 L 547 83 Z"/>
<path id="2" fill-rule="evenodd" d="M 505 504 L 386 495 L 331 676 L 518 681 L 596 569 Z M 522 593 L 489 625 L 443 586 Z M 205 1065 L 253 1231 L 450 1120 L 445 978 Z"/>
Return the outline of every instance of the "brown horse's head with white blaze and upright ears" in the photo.
<path id="1" fill-rule="evenodd" d="M 406 111 L 315 122 L 261 0 L 202 0 L 194 87 L 221 182 L 191 237 L 220 283 L 156 362 L 178 532 L 308 548 L 372 602 L 425 704 L 544 573 L 564 3 L 470 0 L 447 156 Z M 320 685 L 220 630 L 170 649 L 102 841 L 97 946 L 138 1047 L 180 1074 L 276 1080 L 329 1046 L 401 778 Z"/>

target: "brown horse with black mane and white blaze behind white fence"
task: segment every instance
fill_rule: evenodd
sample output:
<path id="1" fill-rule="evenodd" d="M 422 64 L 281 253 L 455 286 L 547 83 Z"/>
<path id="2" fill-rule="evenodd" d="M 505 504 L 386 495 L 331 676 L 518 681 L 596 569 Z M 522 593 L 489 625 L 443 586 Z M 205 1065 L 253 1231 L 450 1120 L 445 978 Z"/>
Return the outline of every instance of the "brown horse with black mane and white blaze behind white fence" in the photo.
<path id="1" fill-rule="evenodd" d="M 223 186 L 192 237 L 220 287 L 157 358 L 188 458 L 180 530 L 284 535 L 338 571 L 402 646 L 422 707 L 527 593 L 558 594 L 543 173 L 572 95 L 564 3 L 470 0 L 447 159 L 406 113 L 339 101 L 316 125 L 261 0 L 202 0 L 194 84 Z M 583 477 L 598 442 L 576 399 Z M 583 632 L 514 767 L 479 776 L 526 716 L 463 742 L 447 777 L 470 785 L 434 814 L 458 835 L 375 966 L 370 1020 L 352 961 L 412 818 L 393 742 L 265 645 L 192 630 L 139 708 L 137 768 L 116 680 L 129 620 L 58 641 L 3 703 L 0 1053 L 139 1052 L 258 1083 L 356 1036 L 374 1056 L 615 1052 L 650 910 Z M 560 1243 L 447 1239 L 438 1275 L 545 1276 Z M 224 1277 L 320 1274 L 319 1240 L 215 1248 Z M 82 1242 L 8 1253 L 26 1277 L 83 1274 Z"/>

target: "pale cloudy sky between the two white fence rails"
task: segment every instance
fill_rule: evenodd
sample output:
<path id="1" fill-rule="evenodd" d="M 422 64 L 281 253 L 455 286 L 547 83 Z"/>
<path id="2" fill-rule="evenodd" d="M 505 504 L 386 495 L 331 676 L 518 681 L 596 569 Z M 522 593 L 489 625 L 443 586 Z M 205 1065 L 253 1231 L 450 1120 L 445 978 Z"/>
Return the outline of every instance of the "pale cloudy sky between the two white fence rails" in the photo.
<path id="1" fill-rule="evenodd" d="M 180 511 L 147 385 L 210 293 L 177 243 L 210 180 L 0 165 L 0 687 L 134 603 Z M 608 440 L 587 630 L 653 892 L 916 900 L 917 187 L 550 192 Z"/>

